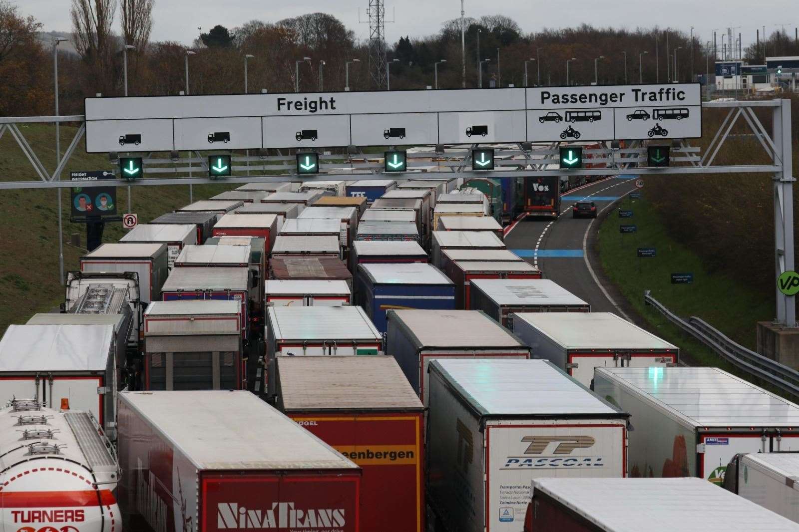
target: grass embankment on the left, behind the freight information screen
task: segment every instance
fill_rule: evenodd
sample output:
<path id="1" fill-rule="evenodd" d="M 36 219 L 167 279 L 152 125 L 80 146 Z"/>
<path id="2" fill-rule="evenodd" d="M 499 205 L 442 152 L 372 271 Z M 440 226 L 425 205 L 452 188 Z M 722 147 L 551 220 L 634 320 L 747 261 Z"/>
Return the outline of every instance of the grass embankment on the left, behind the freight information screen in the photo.
<path id="1" fill-rule="evenodd" d="M 50 172 L 55 168 L 53 125 L 22 124 L 22 135 Z M 76 128 L 62 126 L 62 152 L 70 145 Z M 10 133 L 0 138 L 0 181 L 38 180 L 38 175 Z M 78 145 L 62 173 L 70 170 L 110 170 L 113 165 L 102 154 L 85 153 Z M 237 185 L 194 185 L 193 199 L 202 200 Z M 188 186 L 133 186 L 132 212 L 140 223 L 189 203 Z M 36 312 L 48 312 L 63 301 L 58 284 L 58 193 L 55 189 L 0 191 L 0 335 L 9 324 L 24 324 Z M 70 245 L 70 234 L 80 235 L 85 245 L 85 224 L 70 223 L 70 190 L 62 189 L 64 267 L 78 268 L 85 249 Z M 127 190 L 117 190 L 119 212 L 127 210 Z M 105 224 L 104 242 L 115 242 L 125 234 L 121 222 Z"/>

